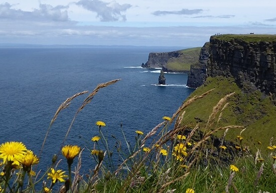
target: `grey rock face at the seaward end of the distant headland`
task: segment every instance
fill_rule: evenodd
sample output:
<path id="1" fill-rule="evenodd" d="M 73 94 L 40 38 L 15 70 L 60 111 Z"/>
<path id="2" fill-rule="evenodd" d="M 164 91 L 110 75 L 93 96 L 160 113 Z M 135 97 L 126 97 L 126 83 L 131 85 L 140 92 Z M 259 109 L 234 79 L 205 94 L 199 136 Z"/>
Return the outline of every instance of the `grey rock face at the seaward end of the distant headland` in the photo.
<path id="1" fill-rule="evenodd" d="M 142 64 L 143 68 L 162 68 L 163 66 L 166 66 L 168 61 L 171 58 L 177 58 L 181 55 L 181 53 L 175 51 L 175 52 L 151 52 L 149 54 L 149 59 L 146 62 L 146 64 Z"/>

